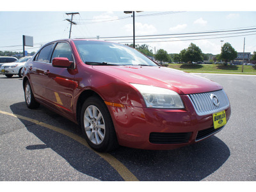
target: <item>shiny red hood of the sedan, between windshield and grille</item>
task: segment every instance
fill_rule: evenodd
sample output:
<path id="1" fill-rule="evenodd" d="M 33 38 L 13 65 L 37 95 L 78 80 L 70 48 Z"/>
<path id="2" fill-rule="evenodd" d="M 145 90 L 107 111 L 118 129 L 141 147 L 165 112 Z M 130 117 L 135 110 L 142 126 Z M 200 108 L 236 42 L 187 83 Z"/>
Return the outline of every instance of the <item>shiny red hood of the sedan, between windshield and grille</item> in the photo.
<path id="1" fill-rule="evenodd" d="M 167 67 L 93 66 L 96 70 L 118 77 L 127 83 L 168 88 L 179 94 L 221 90 L 220 84 L 200 76 Z"/>

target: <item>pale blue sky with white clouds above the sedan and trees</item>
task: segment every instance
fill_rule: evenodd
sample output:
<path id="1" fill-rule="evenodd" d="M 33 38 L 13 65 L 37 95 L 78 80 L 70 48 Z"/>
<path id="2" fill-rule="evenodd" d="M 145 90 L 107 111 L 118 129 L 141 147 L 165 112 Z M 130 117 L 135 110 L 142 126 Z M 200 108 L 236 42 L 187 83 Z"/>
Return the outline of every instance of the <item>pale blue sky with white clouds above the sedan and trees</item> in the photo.
<path id="1" fill-rule="evenodd" d="M 72 4 L 49 0 L 35 4 L 28 0 L 25 5 L 14 2 L 0 7 L 0 51 L 22 51 L 22 35 L 33 36 L 34 46 L 25 47 L 28 52 L 36 52 L 52 40 L 68 38 L 70 22 L 66 19 L 71 19 L 71 15 L 66 13 L 70 12 L 79 12 L 73 17 L 76 25 L 72 25 L 71 38 L 132 44 L 132 17 L 124 13 L 127 10 L 141 10 L 135 13 L 136 44 L 147 44 L 153 52 L 164 49 L 179 53 L 193 43 L 204 53 L 220 54 L 221 45 L 226 42 L 237 52 L 243 52 L 243 47 L 251 54 L 256 51 L 256 12 L 251 0 L 243 3 L 216 0 L 214 4 L 201 0 L 180 0 L 177 4 L 163 0 L 140 3 L 111 0 L 92 4 L 78 0 Z M 113 38 L 117 36 L 128 37 Z"/>

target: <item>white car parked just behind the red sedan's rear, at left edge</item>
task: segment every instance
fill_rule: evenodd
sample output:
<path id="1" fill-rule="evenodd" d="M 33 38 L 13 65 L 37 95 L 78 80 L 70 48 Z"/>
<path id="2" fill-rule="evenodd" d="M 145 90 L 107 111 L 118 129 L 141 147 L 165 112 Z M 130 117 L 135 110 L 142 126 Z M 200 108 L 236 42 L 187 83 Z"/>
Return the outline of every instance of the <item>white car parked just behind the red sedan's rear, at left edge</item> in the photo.
<path id="1" fill-rule="evenodd" d="M 28 61 L 32 56 L 20 58 L 19 60 L 13 63 L 5 63 L 0 68 L 0 74 L 5 75 L 10 78 L 13 75 L 18 75 L 22 77 L 22 68 L 24 67 L 26 61 Z"/>

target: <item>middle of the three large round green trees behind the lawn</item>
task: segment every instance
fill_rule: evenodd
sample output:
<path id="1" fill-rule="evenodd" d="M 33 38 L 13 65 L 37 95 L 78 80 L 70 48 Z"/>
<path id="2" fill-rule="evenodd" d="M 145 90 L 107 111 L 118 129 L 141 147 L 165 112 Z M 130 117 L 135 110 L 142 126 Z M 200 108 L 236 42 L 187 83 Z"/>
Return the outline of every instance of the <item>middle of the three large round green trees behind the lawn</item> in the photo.
<path id="1" fill-rule="evenodd" d="M 203 61 L 203 52 L 199 47 L 191 43 L 188 49 L 180 51 L 180 59 L 184 62 Z"/>

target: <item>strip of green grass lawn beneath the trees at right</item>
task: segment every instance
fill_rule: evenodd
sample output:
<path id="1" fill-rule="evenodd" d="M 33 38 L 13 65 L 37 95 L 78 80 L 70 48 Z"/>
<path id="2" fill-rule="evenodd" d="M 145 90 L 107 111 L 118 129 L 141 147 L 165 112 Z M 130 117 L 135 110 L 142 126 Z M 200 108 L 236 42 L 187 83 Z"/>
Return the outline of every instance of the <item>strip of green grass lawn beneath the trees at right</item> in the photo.
<path id="1" fill-rule="evenodd" d="M 168 67 L 184 72 L 214 73 L 214 74 L 244 74 L 256 75 L 256 66 L 244 65 L 214 65 L 214 64 L 168 64 Z"/>

